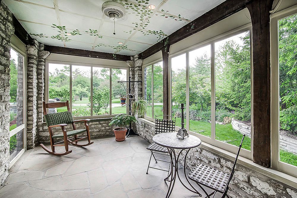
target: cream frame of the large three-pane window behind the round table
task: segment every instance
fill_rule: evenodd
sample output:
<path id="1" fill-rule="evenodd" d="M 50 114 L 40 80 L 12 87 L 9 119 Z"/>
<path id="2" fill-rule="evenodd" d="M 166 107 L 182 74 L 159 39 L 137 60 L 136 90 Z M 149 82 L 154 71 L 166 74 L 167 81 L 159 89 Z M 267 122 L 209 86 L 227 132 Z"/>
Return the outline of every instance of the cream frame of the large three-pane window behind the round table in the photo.
<path id="1" fill-rule="evenodd" d="M 186 116 L 186 129 L 188 130 L 189 134 L 195 135 L 199 137 L 203 142 L 207 142 L 211 145 L 215 145 L 219 148 L 222 148 L 224 150 L 230 151 L 232 153 L 237 153 L 238 147 L 235 145 L 231 145 L 219 140 L 215 139 L 215 71 L 214 71 L 214 44 L 215 42 L 218 42 L 220 40 L 235 36 L 237 34 L 243 33 L 245 31 L 249 31 L 250 34 L 250 57 L 251 57 L 251 151 L 246 150 L 246 149 L 241 149 L 240 155 L 252 159 L 253 158 L 253 64 L 252 64 L 252 24 L 249 23 L 247 25 L 241 26 L 239 28 L 233 29 L 231 31 L 228 31 L 224 34 L 220 34 L 216 37 L 213 37 L 211 39 L 208 39 L 206 41 L 200 42 L 198 44 L 195 44 L 191 47 L 188 47 L 184 50 L 181 50 L 177 53 L 173 53 L 169 55 L 169 112 L 171 114 L 172 112 L 172 98 L 171 98 L 171 91 L 172 91 L 172 79 L 171 79 L 171 59 L 179 56 L 181 54 L 186 53 L 186 86 L 187 86 L 187 91 L 186 91 L 186 111 L 187 111 L 187 116 Z M 199 49 L 201 47 L 205 47 L 207 45 L 211 45 L 211 137 L 206 137 L 204 135 L 191 132 L 189 131 L 189 52 L 192 50 Z M 179 127 L 176 127 L 179 129 Z"/>

